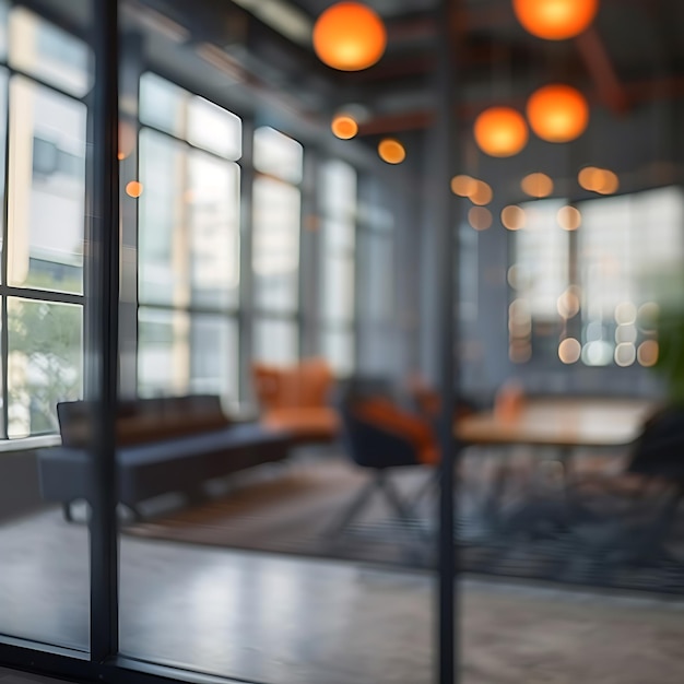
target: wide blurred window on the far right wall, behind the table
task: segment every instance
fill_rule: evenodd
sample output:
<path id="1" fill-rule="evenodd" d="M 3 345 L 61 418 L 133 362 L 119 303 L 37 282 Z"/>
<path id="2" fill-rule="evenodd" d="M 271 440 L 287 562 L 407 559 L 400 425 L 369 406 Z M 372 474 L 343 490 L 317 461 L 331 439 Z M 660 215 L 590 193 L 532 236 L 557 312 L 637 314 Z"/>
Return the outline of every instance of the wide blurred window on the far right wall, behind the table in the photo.
<path id="1" fill-rule="evenodd" d="M 577 202 L 521 205 L 509 283 L 511 359 L 557 353 L 564 363 L 651 365 L 657 357 L 650 287 L 684 267 L 679 188 Z"/>

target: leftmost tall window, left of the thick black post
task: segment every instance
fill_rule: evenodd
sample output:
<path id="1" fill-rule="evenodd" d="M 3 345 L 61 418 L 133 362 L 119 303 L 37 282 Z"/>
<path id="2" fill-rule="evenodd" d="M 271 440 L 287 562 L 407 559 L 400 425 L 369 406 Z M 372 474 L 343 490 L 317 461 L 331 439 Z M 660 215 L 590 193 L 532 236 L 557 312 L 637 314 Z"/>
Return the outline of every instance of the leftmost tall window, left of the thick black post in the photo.
<path id="1" fill-rule="evenodd" d="M 3 231 L 4 437 L 57 431 L 56 405 L 83 391 L 83 244 L 87 46 L 28 10 L 0 39 L 0 158 L 9 141 Z M 40 83 L 33 80 L 36 76 Z M 9 107 L 8 105 L 9 98 Z M 9 121 L 4 113 L 9 110 Z M 8 126 L 9 123 L 9 126 Z"/>

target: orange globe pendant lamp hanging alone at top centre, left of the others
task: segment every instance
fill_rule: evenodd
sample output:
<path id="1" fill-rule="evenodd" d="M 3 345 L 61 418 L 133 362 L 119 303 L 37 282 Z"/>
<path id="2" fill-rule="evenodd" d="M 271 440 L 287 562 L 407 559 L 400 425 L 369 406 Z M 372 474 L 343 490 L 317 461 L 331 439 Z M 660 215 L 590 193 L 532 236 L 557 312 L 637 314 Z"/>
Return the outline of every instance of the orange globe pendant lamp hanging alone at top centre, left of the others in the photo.
<path id="1" fill-rule="evenodd" d="M 361 71 L 375 64 L 387 45 L 382 20 L 361 2 L 338 2 L 314 25 L 318 58 L 340 71 Z"/>

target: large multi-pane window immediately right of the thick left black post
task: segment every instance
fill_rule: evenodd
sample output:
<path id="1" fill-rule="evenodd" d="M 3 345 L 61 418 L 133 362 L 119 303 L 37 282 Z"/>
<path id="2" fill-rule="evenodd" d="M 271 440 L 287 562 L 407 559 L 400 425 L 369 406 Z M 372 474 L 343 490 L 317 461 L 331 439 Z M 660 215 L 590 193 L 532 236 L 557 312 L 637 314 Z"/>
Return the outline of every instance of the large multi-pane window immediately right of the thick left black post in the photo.
<path id="1" fill-rule="evenodd" d="M 139 393 L 237 401 L 241 122 L 152 73 L 140 118 Z"/>

